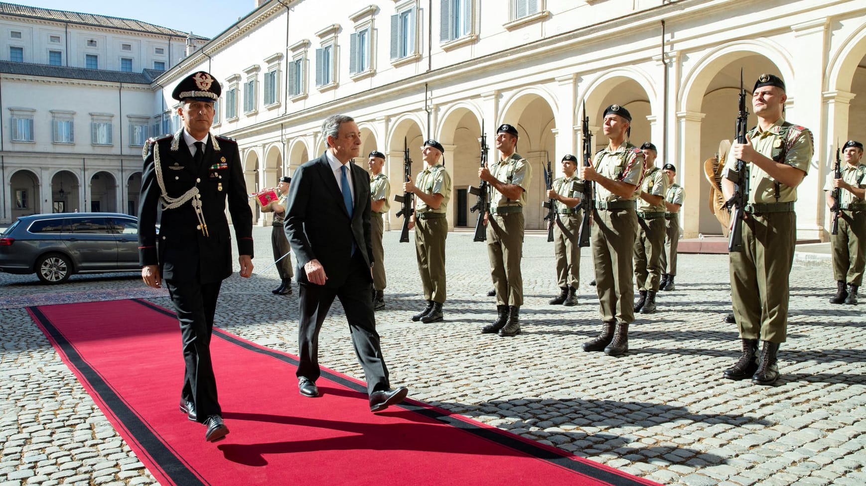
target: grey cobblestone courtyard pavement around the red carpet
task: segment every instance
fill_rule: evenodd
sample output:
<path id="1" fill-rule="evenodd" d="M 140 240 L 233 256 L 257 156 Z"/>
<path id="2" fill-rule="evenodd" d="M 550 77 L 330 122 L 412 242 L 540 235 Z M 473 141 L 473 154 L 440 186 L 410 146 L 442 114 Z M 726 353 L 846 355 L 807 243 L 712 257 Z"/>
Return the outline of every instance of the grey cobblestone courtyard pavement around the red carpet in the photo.
<path id="1" fill-rule="evenodd" d="M 269 231 L 254 231 L 259 271 L 272 261 Z M 660 292 L 656 314 L 638 315 L 630 353 L 613 358 L 580 349 L 599 327 L 589 252 L 579 304 L 552 306 L 553 246 L 527 234 L 523 334 L 501 338 L 479 333 L 495 314 L 485 245 L 449 233 L 446 321 L 423 324 L 410 321 L 423 304 L 414 246 L 397 240 L 385 234 L 387 307 L 378 330 L 391 380 L 412 398 L 659 483 L 866 484 L 866 306 L 828 304 L 829 260 L 795 261 L 783 377 L 758 387 L 720 379 L 739 356 L 737 330 L 721 321 L 730 310 L 727 255 L 681 255 L 677 289 Z M 229 278 L 217 325 L 295 353 L 297 287 L 277 297 L 276 283 L 274 269 Z M 0 274 L 7 296 L 139 285 L 129 273 L 55 287 Z M 150 300 L 171 306 L 167 297 Z M 0 342 L 0 486 L 155 483 L 23 308 L 0 310 Z M 322 329 L 320 359 L 363 378 L 339 304 Z M 283 386 L 297 393 L 296 384 Z M 165 403 L 176 406 L 177 397 Z"/>

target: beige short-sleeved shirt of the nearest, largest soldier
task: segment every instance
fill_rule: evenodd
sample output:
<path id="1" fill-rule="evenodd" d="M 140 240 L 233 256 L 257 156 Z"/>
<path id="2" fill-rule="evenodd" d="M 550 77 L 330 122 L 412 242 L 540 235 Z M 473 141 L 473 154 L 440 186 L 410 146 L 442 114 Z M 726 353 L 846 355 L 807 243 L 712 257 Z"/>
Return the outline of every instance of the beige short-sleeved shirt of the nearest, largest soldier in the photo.
<path id="1" fill-rule="evenodd" d="M 770 130 L 767 131 L 761 131 L 758 126 L 754 127 L 749 131 L 752 145 L 761 155 L 770 158 L 772 158 L 772 151 L 774 149 L 785 147 L 785 160 L 778 162 L 785 163 L 808 174 L 811 157 L 814 153 L 811 131 L 802 126 L 792 125 L 788 131 L 788 136 L 783 140 L 779 136 L 779 129 L 782 128 L 783 123 L 785 123 L 785 118 L 779 118 L 776 120 L 776 123 L 772 124 Z M 728 152 L 727 159 L 725 160 L 725 169 L 734 169 L 737 159 L 733 153 L 733 150 Z M 748 164 L 748 170 L 749 203 L 797 201 L 796 187 L 792 188 L 779 182 L 779 197 L 777 198 L 777 182 L 774 178 L 753 163 Z"/>

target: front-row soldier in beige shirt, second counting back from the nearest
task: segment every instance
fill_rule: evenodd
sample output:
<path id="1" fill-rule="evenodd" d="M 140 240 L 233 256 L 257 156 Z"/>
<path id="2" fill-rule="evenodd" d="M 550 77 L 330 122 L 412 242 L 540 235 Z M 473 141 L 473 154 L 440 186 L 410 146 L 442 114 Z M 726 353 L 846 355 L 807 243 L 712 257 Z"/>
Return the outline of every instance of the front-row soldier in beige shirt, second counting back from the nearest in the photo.
<path id="1" fill-rule="evenodd" d="M 622 106 L 604 110 L 604 135 L 609 143 L 581 166 L 578 176 L 596 182 L 592 211 L 592 260 L 595 264 L 601 334 L 584 342 L 585 351 L 622 355 L 629 350 L 629 323 L 634 312 L 634 253 L 637 238 L 635 200 L 643 176 L 643 152 L 626 140 L 631 115 Z"/>

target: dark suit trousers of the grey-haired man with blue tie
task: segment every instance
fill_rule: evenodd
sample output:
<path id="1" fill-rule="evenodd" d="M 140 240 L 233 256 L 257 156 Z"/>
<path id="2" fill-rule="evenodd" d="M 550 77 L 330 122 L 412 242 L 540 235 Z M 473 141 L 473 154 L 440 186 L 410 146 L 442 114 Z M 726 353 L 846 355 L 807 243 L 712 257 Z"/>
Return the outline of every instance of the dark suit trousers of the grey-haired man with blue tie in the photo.
<path id="1" fill-rule="evenodd" d="M 367 392 L 373 393 L 391 387 L 388 368 L 376 332 L 376 317 L 370 298 L 370 269 L 359 252 L 350 261 L 351 269 L 346 281 L 339 287 L 326 285 L 300 285 L 298 326 L 298 370 L 296 374 L 309 380 L 318 380 L 319 331 L 331 309 L 334 297 L 339 298 L 346 312 L 346 320 L 352 333 L 355 355 L 364 368 Z M 303 269 L 301 269 L 301 272 Z"/>

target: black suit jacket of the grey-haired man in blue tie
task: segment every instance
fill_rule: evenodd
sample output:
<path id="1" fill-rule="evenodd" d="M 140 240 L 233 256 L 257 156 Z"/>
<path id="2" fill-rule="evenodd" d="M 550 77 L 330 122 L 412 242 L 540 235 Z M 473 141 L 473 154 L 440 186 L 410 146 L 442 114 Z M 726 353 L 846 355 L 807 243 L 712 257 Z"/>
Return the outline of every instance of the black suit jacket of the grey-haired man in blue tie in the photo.
<path id="1" fill-rule="evenodd" d="M 288 187 L 283 227 L 298 265 L 298 282 L 309 284 L 304 265 L 318 259 L 327 287 L 339 287 L 351 270 L 352 241 L 367 267 L 373 264 L 370 244 L 370 175 L 353 163 L 354 213 L 350 221 L 343 194 L 325 154 L 295 169 Z M 372 281 L 367 272 L 366 278 Z"/>

